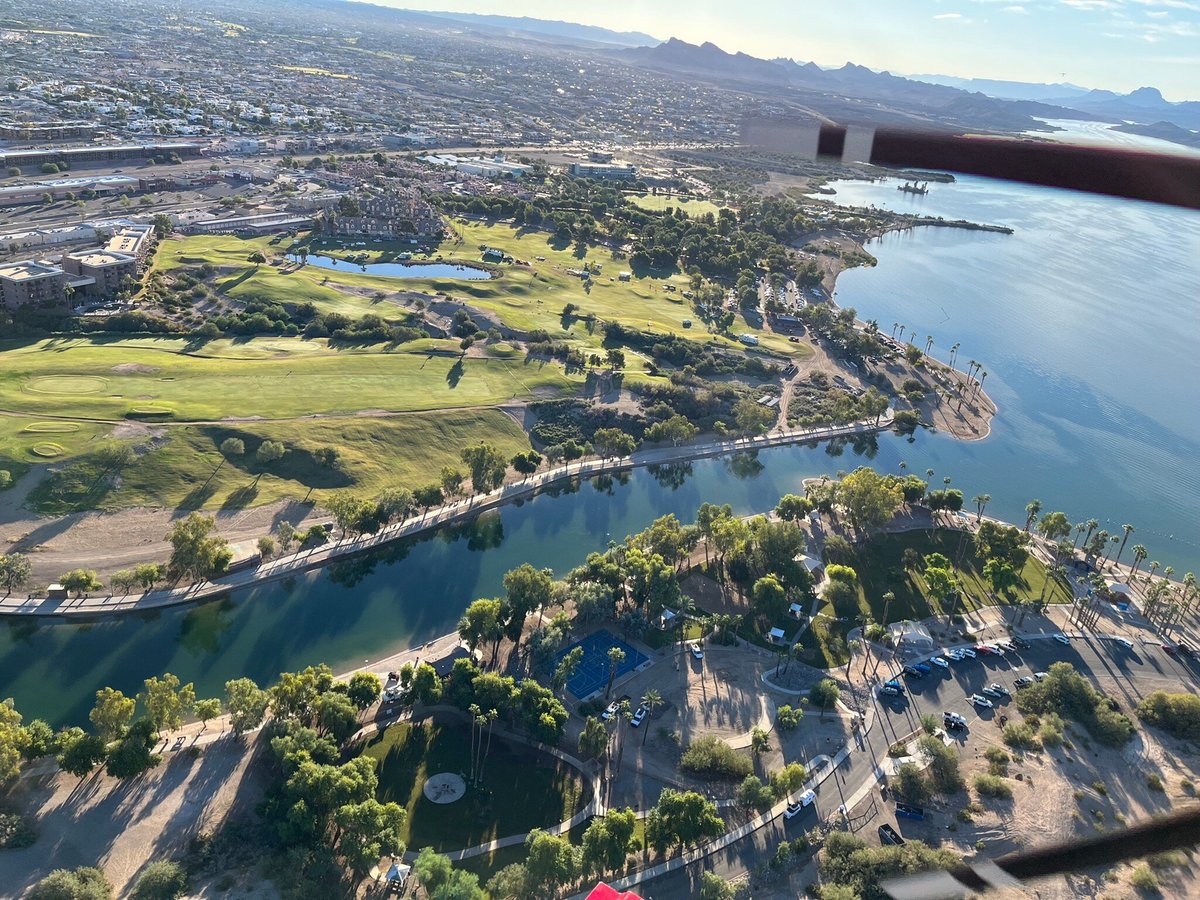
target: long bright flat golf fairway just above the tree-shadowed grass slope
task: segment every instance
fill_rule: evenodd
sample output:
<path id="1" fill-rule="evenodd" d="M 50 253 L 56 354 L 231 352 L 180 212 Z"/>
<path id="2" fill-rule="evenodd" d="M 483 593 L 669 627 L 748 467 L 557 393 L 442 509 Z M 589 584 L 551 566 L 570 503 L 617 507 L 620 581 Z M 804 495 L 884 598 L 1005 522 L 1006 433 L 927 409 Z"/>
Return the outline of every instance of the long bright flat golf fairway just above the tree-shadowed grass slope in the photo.
<path id="1" fill-rule="evenodd" d="M 460 359 L 448 341 L 394 352 L 338 350 L 301 338 L 212 341 L 191 352 L 166 338 L 50 340 L 0 349 L 0 407 L 31 416 L 214 421 L 450 409 L 566 395 L 581 383 L 552 364 Z M 155 409 L 166 415 L 155 416 Z"/>

